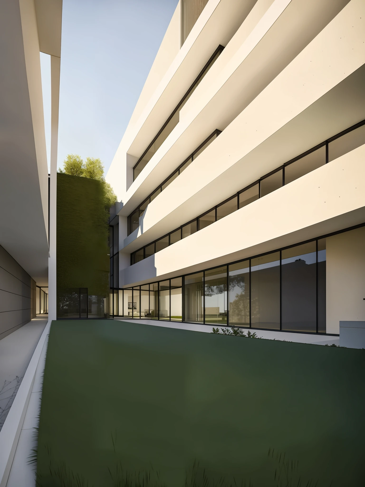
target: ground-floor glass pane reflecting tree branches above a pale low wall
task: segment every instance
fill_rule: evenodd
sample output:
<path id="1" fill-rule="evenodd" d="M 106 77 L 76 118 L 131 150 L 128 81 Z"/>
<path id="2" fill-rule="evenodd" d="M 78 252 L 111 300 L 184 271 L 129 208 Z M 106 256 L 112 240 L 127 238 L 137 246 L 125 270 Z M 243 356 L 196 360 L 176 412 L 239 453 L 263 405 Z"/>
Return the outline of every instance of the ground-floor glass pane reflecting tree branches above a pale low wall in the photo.
<path id="1" fill-rule="evenodd" d="M 227 266 L 205 271 L 205 323 L 227 324 Z"/>

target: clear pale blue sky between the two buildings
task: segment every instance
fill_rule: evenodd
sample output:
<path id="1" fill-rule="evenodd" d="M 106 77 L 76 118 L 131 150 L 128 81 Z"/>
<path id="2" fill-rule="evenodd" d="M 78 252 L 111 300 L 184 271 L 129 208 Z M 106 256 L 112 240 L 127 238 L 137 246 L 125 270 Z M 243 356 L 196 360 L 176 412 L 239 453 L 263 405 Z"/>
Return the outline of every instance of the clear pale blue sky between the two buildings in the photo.
<path id="1" fill-rule="evenodd" d="M 63 0 L 59 167 L 73 153 L 108 171 L 177 3 Z M 41 69 L 49 163 L 49 56 Z"/>

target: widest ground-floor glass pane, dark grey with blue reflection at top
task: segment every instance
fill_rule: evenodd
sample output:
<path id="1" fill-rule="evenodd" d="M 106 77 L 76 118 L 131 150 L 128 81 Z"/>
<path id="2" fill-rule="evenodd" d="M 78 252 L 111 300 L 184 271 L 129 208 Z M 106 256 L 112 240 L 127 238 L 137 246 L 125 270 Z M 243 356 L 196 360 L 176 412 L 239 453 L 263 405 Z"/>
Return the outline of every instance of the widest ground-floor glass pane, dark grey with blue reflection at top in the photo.
<path id="1" fill-rule="evenodd" d="M 315 242 L 281 252 L 281 329 L 316 331 Z"/>

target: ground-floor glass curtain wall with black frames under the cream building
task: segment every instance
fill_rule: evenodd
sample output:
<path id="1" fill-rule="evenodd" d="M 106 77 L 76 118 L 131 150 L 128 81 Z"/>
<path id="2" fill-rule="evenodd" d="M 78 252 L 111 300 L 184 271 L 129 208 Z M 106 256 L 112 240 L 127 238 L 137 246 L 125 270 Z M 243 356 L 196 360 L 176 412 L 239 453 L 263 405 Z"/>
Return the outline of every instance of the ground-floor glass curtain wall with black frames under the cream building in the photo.
<path id="1" fill-rule="evenodd" d="M 87 296 L 75 290 L 74 317 L 85 313 L 79 304 L 84 291 Z M 326 333 L 326 239 L 115 290 L 110 302 L 129 318 Z"/>

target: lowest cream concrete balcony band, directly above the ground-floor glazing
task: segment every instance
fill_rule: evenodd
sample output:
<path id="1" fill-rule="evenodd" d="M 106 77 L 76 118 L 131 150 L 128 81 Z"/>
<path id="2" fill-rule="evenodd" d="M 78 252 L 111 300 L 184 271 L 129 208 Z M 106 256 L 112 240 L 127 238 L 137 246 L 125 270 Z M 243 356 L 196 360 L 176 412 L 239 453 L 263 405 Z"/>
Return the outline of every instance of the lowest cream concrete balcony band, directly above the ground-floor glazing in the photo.
<path id="1" fill-rule="evenodd" d="M 365 222 L 365 145 L 122 271 L 124 285 L 195 272 Z"/>

